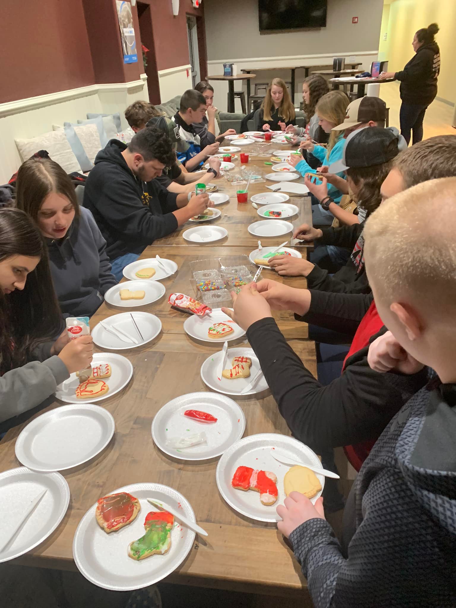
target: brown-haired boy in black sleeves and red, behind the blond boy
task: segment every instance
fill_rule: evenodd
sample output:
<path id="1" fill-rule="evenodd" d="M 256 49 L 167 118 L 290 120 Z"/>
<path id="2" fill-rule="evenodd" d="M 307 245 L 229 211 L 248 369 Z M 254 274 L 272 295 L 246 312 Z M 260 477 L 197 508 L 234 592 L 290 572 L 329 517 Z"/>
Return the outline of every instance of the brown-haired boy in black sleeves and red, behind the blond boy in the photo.
<path id="1" fill-rule="evenodd" d="M 382 185 L 382 198 L 429 176 L 444 174 L 456 176 L 454 135 L 424 140 L 396 156 L 395 166 Z M 257 291 L 241 291 L 235 299 L 234 319 L 247 331 L 247 339 L 289 429 L 319 454 L 331 447 L 348 446 L 347 455 L 359 468 L 371 446 L 361 442 L 378 437 L 392 416 L 426 382 L 427 370 L 416 376 L 401 376 L 370 369 L 368 346 L 386 331 L 372 295 L 296 289 L 274 280 L 261 281 Z M 266 300 L 266 306 L 258 293 Z M 353 340 L 342 375 L 326 386 L 317 381 L 280 333 L 271 309 L 292 310 L 298 320 L 350 334 Z M 233 318 L 233 311 L 224 311 Z"/>

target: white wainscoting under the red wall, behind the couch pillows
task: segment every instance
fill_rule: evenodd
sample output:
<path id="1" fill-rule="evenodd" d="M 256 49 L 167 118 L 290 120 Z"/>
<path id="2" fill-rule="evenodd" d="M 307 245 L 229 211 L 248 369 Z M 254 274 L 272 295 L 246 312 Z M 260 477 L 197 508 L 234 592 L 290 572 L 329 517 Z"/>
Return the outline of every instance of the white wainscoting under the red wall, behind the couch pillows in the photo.
<path id="1" fill-rule="evenodd" d="M 52 131 L 52 125 L 86 119 L 87 112 L 123 112 L 136 99 L 148 100 L 147 76 L 109 85 L 91 85 L 15 102 L 0 103 L 0 184 L 5 184 L 21 164 L 15 139 L 36 137 Z"/>

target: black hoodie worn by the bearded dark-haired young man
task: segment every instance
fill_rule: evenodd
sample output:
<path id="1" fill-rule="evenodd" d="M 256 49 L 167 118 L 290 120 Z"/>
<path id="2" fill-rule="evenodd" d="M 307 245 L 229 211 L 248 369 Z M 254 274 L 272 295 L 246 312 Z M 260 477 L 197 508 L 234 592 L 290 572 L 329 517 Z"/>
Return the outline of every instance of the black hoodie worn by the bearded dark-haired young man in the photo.
<path id="1" fill-rule="evenodd" d="M 156 238 L 176 230 L 178 195 L 156 180 L 142 182 L 122 156 L 126 144 L 111 139 L 95 157 L 84 190 L 84 206 L 91 210 L 106 240 L 106 253 L 115 260 L 127 253 L 140 254 Z"/>

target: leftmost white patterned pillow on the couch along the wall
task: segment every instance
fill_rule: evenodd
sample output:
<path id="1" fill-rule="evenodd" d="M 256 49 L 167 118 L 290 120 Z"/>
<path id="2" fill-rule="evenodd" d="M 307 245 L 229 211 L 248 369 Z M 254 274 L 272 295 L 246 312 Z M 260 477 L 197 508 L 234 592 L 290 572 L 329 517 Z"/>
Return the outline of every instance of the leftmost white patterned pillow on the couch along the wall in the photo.
<path id="1" fill-rule="evenodd" d="M 65 132 L 48 131 L 30 139 L 15 139 L 22 161 L 27 161 L 38 150 L 47 150 L 53 161 L 57 162 L 66 173 L 77 171 L 81 168 L 69 145 Z"/>

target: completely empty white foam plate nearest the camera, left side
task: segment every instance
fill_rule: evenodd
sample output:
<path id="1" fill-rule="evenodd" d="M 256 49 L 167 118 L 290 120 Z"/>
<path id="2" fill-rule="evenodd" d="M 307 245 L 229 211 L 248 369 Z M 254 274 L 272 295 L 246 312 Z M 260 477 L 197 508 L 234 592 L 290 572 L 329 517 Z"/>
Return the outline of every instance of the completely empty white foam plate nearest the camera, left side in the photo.
<path id="1" fill-rule="evenodd" d="M 91 460 L 111 441 L 116 425 L 91 403 L 56 407 L 32 420 L 16 440 L 16 458 L 33 471 L 64 471 Z"/>

